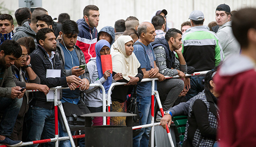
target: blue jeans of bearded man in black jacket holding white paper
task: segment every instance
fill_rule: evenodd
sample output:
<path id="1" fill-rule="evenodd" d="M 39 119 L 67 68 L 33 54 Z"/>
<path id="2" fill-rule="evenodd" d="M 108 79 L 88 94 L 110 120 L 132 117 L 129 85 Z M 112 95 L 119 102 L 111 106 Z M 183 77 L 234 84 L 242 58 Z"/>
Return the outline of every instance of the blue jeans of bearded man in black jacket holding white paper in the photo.
<path id="1" fill-rule="evenodd" d="M 32 106 L 27 113 L 27 141 L 55 138 L 55 118 L 54 109 Z M 36 145 L 29 145 L 29 147 L 37 147 Z M 45 143 L 44 147 L 54 147 L 55 142 Z"/>

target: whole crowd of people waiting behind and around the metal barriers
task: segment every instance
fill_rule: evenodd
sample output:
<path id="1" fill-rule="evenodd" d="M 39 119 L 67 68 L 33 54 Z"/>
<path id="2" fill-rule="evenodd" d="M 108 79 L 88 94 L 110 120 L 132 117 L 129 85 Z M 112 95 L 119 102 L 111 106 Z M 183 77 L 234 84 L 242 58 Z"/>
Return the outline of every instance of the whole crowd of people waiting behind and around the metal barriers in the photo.
<path id="1" fill-rule="evenodd" d="M 77 21 L 60 14 L 57 23 L 44 8 L 32 13 L 19 8 L 15 30 L 12 16 L 1 14 L 0 145 L 16 147 L 55 138 L 49 90 L 57 86 L 69 87 L 59 93 L 62 103 L 83 103 L 95 113 L 102 112 L 102 93 L 107 96 L 111 83 L 125 82 L 111 90 L 111 111 L 126 112 L 130 94 L 136 93 L 141 124 L 149 124 L 152 87 L 150 81 L 141 80 L 158 78 L 154 89 L 166 115 L 156 111 L 155 121 L 166 129 L 174 115 L 188 115 L 183 147 L 255 146 L 256 119 L 247 120 L 256 111 L 252 92 L 256 9 L 230 11 L 228 5 L 218 5 L 216 21 L 208 26 L 204 14 L 194 10 L 180 30 L 167 28 L 167 14 L 158 10 L 151 22 L 142 23 L 130 16 L 99 32 L 100 10 L 95 5 L 86 6 Z M 107 61 L 102 60 L 106 55 L 112 61 L 107 70 L 103 68 Z M 208 70 L 205 76 L 185 76 Z M 175 75 L 180 78 L 166 79 Z M 102 84 L 105 91 L 89 87 L 92 83 Z M 102 117 L 92 120 L 94 126 L 102 124 Z M 111 117 L 110 124 L 126 126 L 126 117 Z M 62 128 L 59 123 L 59 136 L 68 136 Z M 148 147 L 150 131 L 142 128 L 133 138 L 133 147 Z M 79 146 L 84 145 L 84 139 L 79 140 Z M 71 143 L 63 140 L 59 146 L 71 147 Z"/>

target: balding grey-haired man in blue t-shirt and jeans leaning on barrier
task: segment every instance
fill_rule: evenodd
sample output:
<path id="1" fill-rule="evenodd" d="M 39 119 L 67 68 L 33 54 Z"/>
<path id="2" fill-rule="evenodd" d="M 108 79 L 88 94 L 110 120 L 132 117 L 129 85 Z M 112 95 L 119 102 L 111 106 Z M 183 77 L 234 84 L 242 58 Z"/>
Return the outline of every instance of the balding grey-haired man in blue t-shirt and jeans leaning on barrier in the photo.
<path id="1" fill-rule="evenodd" d="M 143 78 L 159 78 L 163 81 L 164 75 L 159 73 L 159 69 L 156 66 L 153 47 L 150 42 L 155 40 L 155 28 L 152 23 L 143 22 L 138 27 L 138 34 L 140 38 L 135 42 L 134 53 L 140 62 L 141 70 L 143 71 Z M 155 82 L 156 90 L 156 82 Z M 138 109 L 142 112 L 143 117 L 141 119 L 143 124 L 151 123 L 151 81 L 142 82 L 137 85 L 137 101 Z M 149 128 L 142 128 L 139 135 L 133 138 L 133 147 L 148 147 L 149 143 Z"/>

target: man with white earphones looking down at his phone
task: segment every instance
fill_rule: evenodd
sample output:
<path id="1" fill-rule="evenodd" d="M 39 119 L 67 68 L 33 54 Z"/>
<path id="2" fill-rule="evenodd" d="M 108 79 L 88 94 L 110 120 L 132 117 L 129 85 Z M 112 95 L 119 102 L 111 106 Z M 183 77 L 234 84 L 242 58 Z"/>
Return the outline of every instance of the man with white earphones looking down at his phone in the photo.
<path id="1" fill-rule="evenodd" d="M 57 53 L 65 76 L 75 75 L 82 79 L 84 85 L 73 90 L 63 90 L 62 103 L 69 102 L 78 104 L 79 100 L 83 100 L 83 91 L 88 90 L 90 85 L 89 71 L 86 67 L 85 57 L 81 49 L 76 46 L 78 36 L 78 25 L 75 21 L 66 20 L 62 22 L 62 29 L 59 32 L 61 39 L 57 40 Z M 72 132 L 74 135 L 75 131 Z M 59 125 L 59 136 L 68 136 Z M 71 147 L 69 140 L 60 141 L 59 146 Z"/>

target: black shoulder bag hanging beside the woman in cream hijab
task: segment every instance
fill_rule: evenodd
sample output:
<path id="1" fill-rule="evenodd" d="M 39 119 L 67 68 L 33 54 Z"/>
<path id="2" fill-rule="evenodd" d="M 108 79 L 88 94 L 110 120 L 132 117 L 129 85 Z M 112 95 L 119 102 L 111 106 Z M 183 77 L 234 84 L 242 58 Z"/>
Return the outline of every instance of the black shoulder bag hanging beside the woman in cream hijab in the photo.
<path id="1" fill-rule="evenodd" d="M 136 101 L 137 100 L 136 89 L 137 89 L 137 85 L 134 85 L 133 94 L 130 98 L 130 105 L 127 108 L 127 113 L 137 114 L 136 116 L 133 116 L 133 122 L 132 122 L 131 126 L 141 125 L 141 119 L 142 119 L 142 116 L 143 116 L 142 112 L 140 112 L 138 110 L 137 101 Z M 128 123 L 129 122 L 126 121 L 126 124 L 128 124 Z M 133 137 L 137 136 L 139 133 L 140 133 L 140 129 L 133 130 Z"/>

